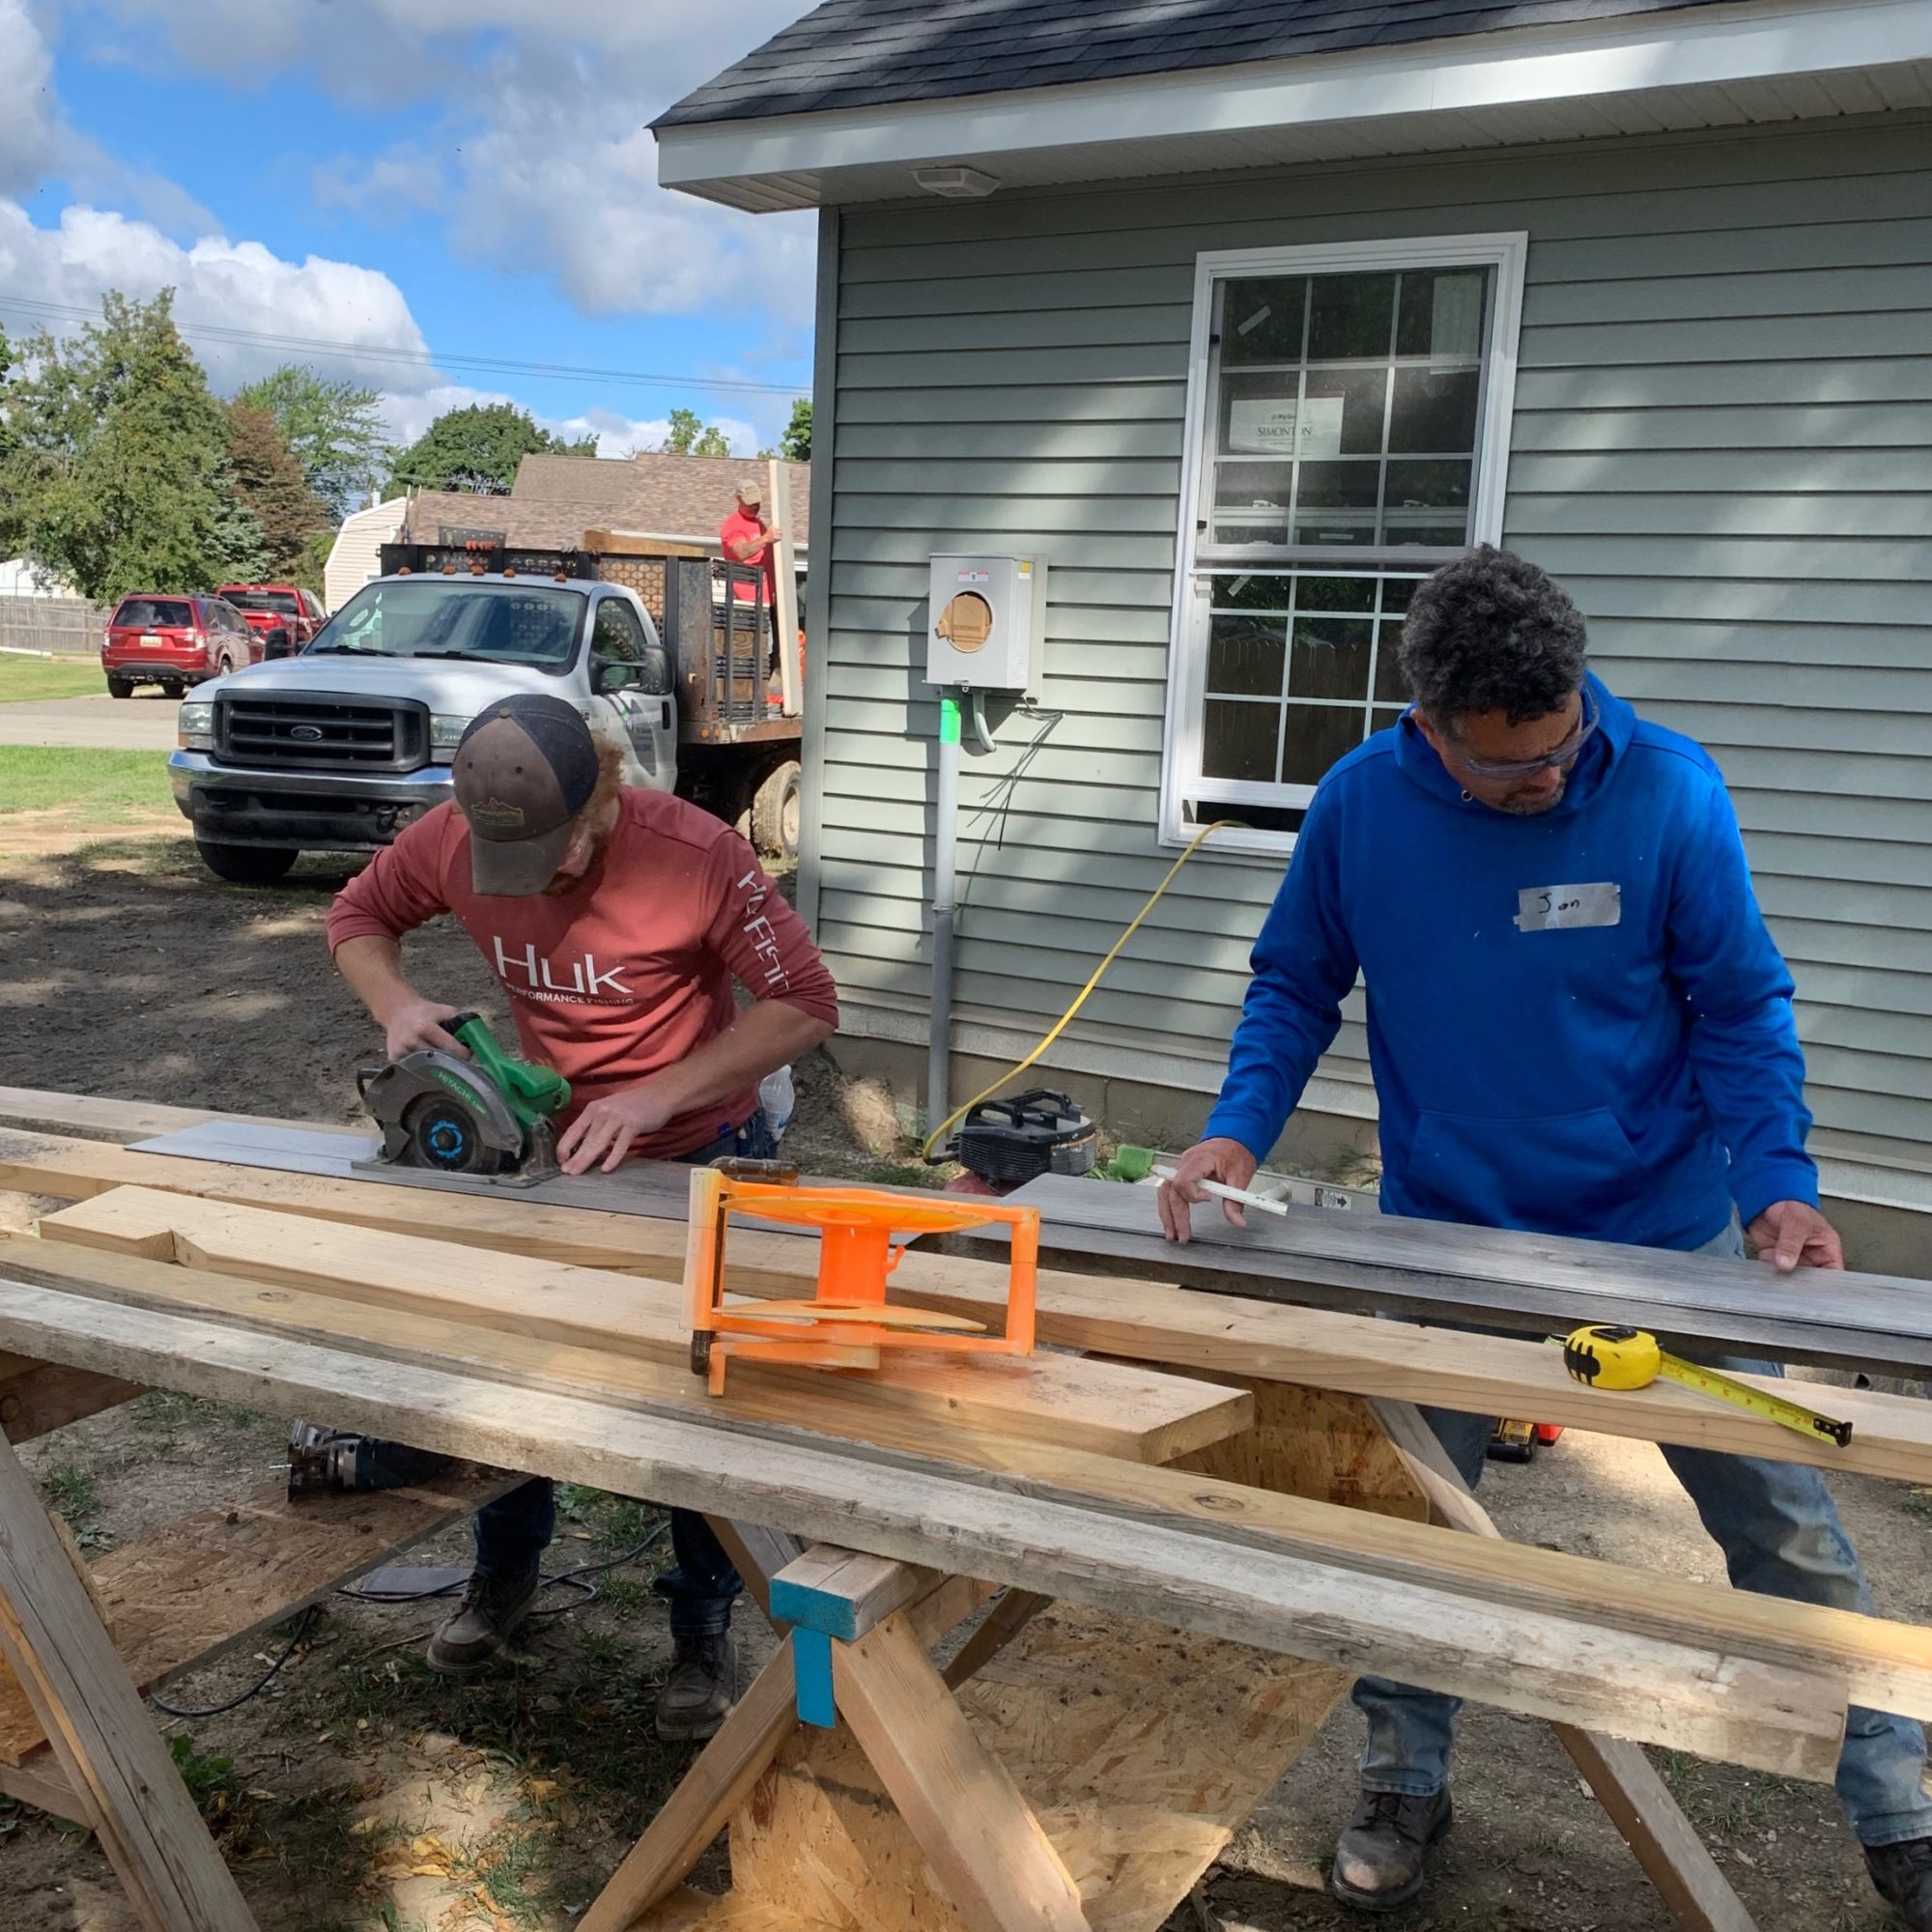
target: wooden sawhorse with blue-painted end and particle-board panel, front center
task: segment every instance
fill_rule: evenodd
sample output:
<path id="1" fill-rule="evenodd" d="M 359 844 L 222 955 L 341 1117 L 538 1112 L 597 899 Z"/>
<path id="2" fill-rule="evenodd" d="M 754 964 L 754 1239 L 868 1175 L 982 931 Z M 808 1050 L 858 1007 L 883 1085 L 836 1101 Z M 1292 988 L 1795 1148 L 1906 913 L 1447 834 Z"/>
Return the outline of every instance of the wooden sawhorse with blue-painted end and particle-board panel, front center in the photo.
<path id="1" fill-rule="evenodd" d="M 1186 1466 L 1495 1534 L 1414 1408 L 1254 1391 L 1256 1426 Z M 582 1932 L 1155 1932 L 1349 1687 L 1325 1665 L 715 1528 L 782 1642 Z M 1559 1735 L 1679 1924 L 1752 1932 L 1642 1750 Z M 684 1884 L 719 1832 L 723 1897 Z"/>

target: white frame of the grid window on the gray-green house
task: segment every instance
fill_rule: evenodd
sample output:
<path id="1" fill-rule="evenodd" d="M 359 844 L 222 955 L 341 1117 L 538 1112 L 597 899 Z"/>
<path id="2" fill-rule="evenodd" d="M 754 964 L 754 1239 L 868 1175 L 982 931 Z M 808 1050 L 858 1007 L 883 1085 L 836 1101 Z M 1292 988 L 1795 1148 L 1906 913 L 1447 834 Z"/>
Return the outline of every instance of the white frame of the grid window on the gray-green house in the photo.
<path id="1" fill-rule="evenodd" d="M 1225 798 L 1231 804 L 1267 804 L 1294 810 L 1314 798 L 1314 786 L 1246 784 L 1233 779 L 1186 779 L 1202 761 L 1202 701 L 1208 674 L 1208 583 L 1209 576 L 1238 576 L 1300 570 L 1302 574 L 1360 576 L 1385 574 L 1391 564 L 1345 560 L 1327 553 L 1302 562 L 1294 551 L 1256 553 L 1242 558 L 1198 560 L 1198 520 L 1202 516 L 1202 466 L 1206 462 L 1209 396 L 1209 334 L 1213 328 L 1215 282 L 1254 274 L 1362 274 L 1376 269 L 1495 269 L 1495 313 L 1482 361 L 1478 404 L 1476 471 L 1470 491 L 1470 543 L 1497 543 L 1503 533 L 1503 500 L 1509 483 L 1509 427 L 1517 400 L 1517 344 L 1522 334 L 1522 276 L 1530 238 L 1526 232 L 1478 236 L 1408 236 L 1387 242 L 1321 242 L 1306 247 L 1213 249 L 1194 257 L 1194 332 L 1188 348 L 1188 408 L 1180 460 L 1180 514 L 1175 529 L 1175 599 L 1167 639 L 1167 724 L 1161 738 L 1161 831 L 1163 846 L 1190 844 L 1198 833 L 1182 817 L 1190 798 Z M 1213 547 L 1209 547 L 1213 549 Z M 1434 568 L 1441 553 L 1418 551 L 1416 566 Z M 1264 796 L 1265 794 L 1265 796 Z M 1291 796 L 1294 794 L 1294 796 Z M 1233 827 L 1211 833 L 1211 852 L 1294 850 L 1294 835 Z"/>

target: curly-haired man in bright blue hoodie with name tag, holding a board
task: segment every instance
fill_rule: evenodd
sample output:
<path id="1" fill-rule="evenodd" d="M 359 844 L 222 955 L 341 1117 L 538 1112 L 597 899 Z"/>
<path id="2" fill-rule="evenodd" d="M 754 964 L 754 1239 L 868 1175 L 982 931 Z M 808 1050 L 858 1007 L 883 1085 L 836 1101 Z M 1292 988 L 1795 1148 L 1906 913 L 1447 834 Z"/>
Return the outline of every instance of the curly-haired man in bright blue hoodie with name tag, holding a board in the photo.
<path id="1" fill-rule="evenodd" d="M 1488 545 L 1416 589 L 1403 672 L 1412 707 L 1308 808 L 1221 1097 L 1161 1188 L 1169 1236 L 1188 1238 L 1202 1180 L 1254 1177 L 1360 972 L 1389 1213 L 1843 1267 L 1804 1151 L 1791 976 L 1718 767 L 1613 697 L 1569 597 Z M 1424 1414 L 1474 1484 L 1490 1418 Z M 1663 1457 L 1737 1588 L 1872 1607 L 1814 1468 Z M 1451 1824 L 1459 1700 L 1364 1677 L 1354 1702 L 1362 1793 L 1331 1886 L 1393 1911 Z M 1917 1723 L 1851 1712 L 1839 1799 L 1913 1932 L 1932 1932 L 1922 1770 Z"/>

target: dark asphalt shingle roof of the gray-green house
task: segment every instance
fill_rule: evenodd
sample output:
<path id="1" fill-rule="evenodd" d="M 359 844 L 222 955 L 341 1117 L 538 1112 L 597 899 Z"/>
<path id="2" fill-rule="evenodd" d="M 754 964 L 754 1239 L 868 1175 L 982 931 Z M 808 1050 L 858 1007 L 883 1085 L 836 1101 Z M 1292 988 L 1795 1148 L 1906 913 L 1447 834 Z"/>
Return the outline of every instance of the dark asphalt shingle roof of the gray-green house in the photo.
<path id="1" fill-rule="evenodd" d="M 1723 0 L 825 0 L 655 128 L 1335 54 Z"/>

